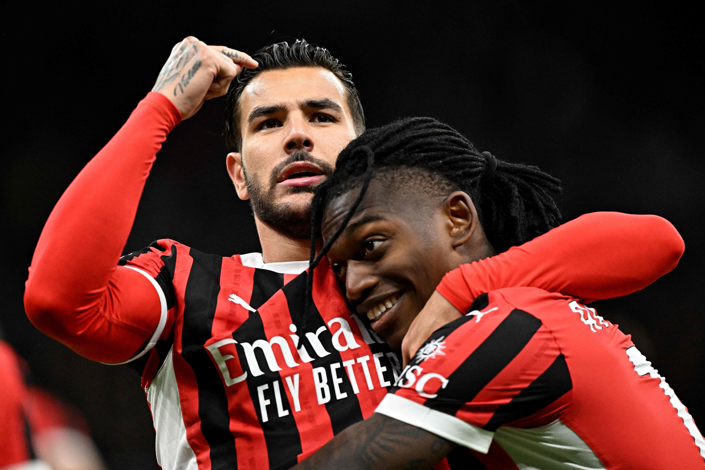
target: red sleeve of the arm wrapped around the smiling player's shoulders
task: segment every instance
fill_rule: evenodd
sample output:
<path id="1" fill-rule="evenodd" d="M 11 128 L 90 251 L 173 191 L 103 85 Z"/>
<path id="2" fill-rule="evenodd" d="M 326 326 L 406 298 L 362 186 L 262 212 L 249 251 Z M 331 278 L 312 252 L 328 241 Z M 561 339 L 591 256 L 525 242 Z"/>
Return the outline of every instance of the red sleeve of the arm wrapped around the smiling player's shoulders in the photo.
<path id="1" fill-rule="evenodd" d="M 436 290 L 467 311 L 478 295 L 504 287 L 539 287 L 578 299 L 631 294 L 670 272 L 685 245 L 666 219 L 595 212 L 524 245 L 446 274 Z"/>

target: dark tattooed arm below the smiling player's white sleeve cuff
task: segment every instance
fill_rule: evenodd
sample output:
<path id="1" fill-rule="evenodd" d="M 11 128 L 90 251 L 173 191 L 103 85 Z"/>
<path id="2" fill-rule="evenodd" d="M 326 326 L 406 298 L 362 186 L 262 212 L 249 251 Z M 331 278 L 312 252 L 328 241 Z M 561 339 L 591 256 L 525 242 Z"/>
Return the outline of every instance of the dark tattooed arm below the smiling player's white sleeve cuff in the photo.
<path id="1" fill-rule="evenodd" d="M 439 436 L 375 413 L 338 433 L 294 470 L 431 469 L 455 448 Z"/>

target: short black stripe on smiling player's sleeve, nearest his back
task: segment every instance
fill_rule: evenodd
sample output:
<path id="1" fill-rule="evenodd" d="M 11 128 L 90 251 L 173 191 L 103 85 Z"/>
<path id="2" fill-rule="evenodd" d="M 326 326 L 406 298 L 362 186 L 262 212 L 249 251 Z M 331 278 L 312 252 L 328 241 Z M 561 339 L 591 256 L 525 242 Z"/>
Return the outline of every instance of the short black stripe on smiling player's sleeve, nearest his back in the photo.
<path id="1" fill-rule="evenodd" d="M 503 424 L 531 416 L 570 390 L 572 381 L 568 364 L 565 364 L 565 357 L 560 354 L 531 385 L 515 395 L 511 402 L 499 407 L 484 428 L 496 431 Z"/>

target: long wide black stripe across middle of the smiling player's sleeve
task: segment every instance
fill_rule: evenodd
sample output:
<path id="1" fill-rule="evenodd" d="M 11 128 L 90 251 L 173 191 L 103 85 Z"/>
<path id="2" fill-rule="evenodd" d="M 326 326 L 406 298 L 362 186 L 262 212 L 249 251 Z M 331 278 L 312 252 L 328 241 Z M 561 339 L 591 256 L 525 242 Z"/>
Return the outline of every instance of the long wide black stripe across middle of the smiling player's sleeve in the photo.
<path id="1" fill-rule="evenodd" d="M 472 319 L 473 317 L 466 316 L 456 321 Z M 489 323 L 489 318 L 485 318 L 484 321 Z M 455 322 L 451 322 L 449 325 L 453 323 Z M 470 401 L 524 349 L 539 328 L 541 328 L 541 321 L 535 316 L 519 309 L 511 311 L 492 330 L 487 339 L 475 348 L 470 356 L 448 376 L 448 385 L 444 395 L 467 397 L 467 401 Z M 462 330 L 464 328 L 461 327 L 455 332 L 460 333 Z M 449 339 L 452 336 L 453 334 L 449 336 Z M 425 404 L 427 407 L 453 415 L 462 406 L 460 400 L 451 404 L 448 400 L 439 397 L 429 398 Z"/>

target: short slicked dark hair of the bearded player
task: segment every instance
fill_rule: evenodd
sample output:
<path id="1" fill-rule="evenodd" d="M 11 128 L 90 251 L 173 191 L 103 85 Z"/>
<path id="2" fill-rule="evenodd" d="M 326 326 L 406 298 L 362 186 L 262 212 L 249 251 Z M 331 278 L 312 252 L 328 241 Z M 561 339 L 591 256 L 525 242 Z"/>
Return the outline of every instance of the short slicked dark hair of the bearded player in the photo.
<path id="1" fill-rule="evenodd" d="M 309 44 L 306 39 L 297 39 L 293 44 L 278 42 L 270 44 L 255 54 L 250 54 L 259 63 L 257 68 L 243 68 L 237 80 L 237 86 L 231 86 L 226 99 L 225 128 L 226 141 L 232 151 L 240 151 L 243 144 L 240 129 L 240 95 L 253 78 L 266 70 L 286 70 L 294 67 L 320 67 L 330 70 L 341 80 L 348 98 L 348 108 L 353 117 L 353 125 L 358 135 L 364 131 L 364 112 L 360 103 L 360 93 L 353 83 L 353 74 L 337 58 L 331 56 L 328 49 Z M 234 84 L 233 84 L 234 85 Z"/>

